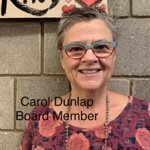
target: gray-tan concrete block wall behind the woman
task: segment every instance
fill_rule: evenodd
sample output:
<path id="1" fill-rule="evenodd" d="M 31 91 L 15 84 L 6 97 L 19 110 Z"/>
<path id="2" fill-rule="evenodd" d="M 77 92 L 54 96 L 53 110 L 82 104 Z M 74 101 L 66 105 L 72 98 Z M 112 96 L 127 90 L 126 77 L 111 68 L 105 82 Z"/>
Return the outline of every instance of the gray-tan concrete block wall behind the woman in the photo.
<path id="1" fill-rule="evenodd" d="M 111 0 L 109 13 L 118 20 L 120 38 L 109 88 L 150 99 L 150 1 Z M 17 110 L 30 112 L 20 99 L 62 95 L 69 83 L 56 51 L 58 20 L 0 20 L 0 150 L 18 150 L 24 121 Z"/>

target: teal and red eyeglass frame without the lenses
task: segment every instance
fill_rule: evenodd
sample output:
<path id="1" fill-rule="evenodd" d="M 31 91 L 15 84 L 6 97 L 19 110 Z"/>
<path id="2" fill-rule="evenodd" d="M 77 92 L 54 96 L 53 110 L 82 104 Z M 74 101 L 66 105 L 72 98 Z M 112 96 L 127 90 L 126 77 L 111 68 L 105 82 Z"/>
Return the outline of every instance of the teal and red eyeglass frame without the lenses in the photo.
<path id="1" fill-rule="evenodd" d="M 96 54 L 95 51 L 94 51 L 94 48 L 95 48 L 95 46 L 98 45 L 98 44 L 111 44 L 112 49 L 110 49 L 110 50 L 112 50 L 112 52 L 111 52 L 110 54 L 106 55 L 106 56 L 97 56 L 97 54 Z M 71 56 L 71 55 L 68 54 L 68 52 L 70 51 L 70 49 L 73 48 L 73 47 L 75 47 L 75 46 L 81 46 L 81 47 L 83 47 L 83 49 L 85 50 L 84 53 L 83 53 L 81 56 L 75 57 L 75 56 Z M 113 53 L 113 49 L 114 49 L 115 47 L 117 47 L 117 42 L 115 42 L 115 41 L 98 41 L 98 42 L 95 42 L 95 43 L 90 44 L 90 45 L 86 45 L 86 44 L 80 43 L 80 42 L 75 42 L 75 43 L 71 43 L 71 44 L 65 44 L 65 45 L 63 46 L 63 49 L 64 49 L 64 51 L 66 52 L 67 56 L 68 56 L 68 57 L 71 57 L 71 58 L 82 58 L 82 57 L 84 57 L 84 55 L 86 54 L 87 50 L 90 50 L 90 49 L 92 49 L 93 53 L 94 53 L 97 57 L 102 58 L 102 57 L 108 57 L 109 55 L 111 55 L 111 54 Z"/>

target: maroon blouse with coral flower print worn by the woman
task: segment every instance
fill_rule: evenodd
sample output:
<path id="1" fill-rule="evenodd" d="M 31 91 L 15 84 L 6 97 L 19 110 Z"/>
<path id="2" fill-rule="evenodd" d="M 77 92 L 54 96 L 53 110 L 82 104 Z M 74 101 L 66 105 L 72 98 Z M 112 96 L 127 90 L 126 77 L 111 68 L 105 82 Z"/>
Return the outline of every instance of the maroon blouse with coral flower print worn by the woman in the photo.
<path id="1" fill-rule="evenodd" d="M 48 113 L 49 119 L 27 121 L 20 150 L 64 150 L 65 122 L 53 120 L 51 106 L 38 106 L 32 113 Z M 71 126 L 69 150 L 102 150 L 105 128 L 93 130 Z M 108 150 L 150 150 L 150 101 L 130 97 L 122 113 L 109 124 Z"/>

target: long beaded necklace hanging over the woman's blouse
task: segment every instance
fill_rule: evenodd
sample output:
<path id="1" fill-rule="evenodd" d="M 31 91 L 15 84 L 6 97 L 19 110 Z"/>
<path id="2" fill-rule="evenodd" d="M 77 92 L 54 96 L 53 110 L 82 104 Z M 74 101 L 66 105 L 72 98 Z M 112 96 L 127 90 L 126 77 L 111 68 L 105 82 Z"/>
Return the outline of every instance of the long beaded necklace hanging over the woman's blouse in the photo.
<path id="1" fill-rule="evenodd" d="M 69 94 L 69 99 L 71 99 L 71 92 Z M 67 113 L 70 112 L 70 107 L 67 109 Z M 68 121 L 65 123 L 65 150 L 68 150 L 68 138 L 69 138 L 69 127 L 70 125 L 68 124 Z M 108 127 L 109 127 L 109 98 L 108 95 L 106 95 L 106 116 L 105 116 L 105 141 L 104 141 L 104 146 L 102 147 L 102 150 L 107 150 L 107 145 L 108 145 Z"/>

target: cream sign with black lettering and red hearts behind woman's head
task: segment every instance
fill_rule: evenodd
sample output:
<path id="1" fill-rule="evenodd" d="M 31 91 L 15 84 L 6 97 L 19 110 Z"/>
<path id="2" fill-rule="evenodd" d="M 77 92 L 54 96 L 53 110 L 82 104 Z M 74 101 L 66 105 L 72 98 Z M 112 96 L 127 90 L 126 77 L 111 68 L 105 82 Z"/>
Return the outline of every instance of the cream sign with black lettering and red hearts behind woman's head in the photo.
<path id="1" fill-rule="evenodd" d="M 75 7 L 98 7 L 107 12 L 107 0 L 1 0 L 1 18 L 60 18 Z"/>

